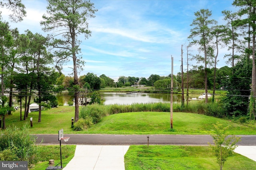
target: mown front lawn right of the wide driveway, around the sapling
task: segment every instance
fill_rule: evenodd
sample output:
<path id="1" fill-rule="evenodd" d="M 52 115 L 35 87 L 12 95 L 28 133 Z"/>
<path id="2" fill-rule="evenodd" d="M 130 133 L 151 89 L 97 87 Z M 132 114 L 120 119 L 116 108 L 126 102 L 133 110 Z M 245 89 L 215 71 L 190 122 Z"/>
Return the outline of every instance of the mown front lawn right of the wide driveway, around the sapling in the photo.
<path id="1" fill-rule="evenodd" d="M 218 170 L 209 147 L 132 145 L 124 156 L 126 170 Z M 234 153 L 223 170 L 255 170 L 256 162 Z"/>

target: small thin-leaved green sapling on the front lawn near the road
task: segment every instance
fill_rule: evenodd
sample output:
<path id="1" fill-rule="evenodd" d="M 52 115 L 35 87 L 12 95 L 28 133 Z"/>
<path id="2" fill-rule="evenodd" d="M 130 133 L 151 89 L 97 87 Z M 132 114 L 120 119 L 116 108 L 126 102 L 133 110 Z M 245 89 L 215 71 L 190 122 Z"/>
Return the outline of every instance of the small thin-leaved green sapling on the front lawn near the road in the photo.
<path id="1" fill-rule="evenodd" d="M 222 124 L 219 122 L 214 124 L 214 134 L 211 135 L 214 145 L 209 144 L 212 152 L 217 158 L 217 163 L 220 166 L 220 170 L 222 170 L 228 156 L 231 156 L 233 151 L 236 149 L 236 143 L 238 143 L 241 138 L 236 136 L 227 138 L 228 135 L 226 134 L 226 131 L 228 128 L 229 125 L 227 127 L 222 127 Z"/>

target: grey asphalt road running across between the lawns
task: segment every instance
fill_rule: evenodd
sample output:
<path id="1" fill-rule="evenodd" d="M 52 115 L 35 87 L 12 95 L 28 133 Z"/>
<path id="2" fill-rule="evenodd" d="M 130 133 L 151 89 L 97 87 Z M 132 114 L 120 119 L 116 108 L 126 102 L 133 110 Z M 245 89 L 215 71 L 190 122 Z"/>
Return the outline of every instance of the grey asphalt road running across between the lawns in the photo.
<path id="1" fill-rule="evenodd" d="M 242 137 L 240 146 L 256 146 L 256 135 L 237 135 Z M 37 143 L 59 144 L 58 135 L 36 135 Z M 102 134 L 64 134 L 70 137 L 63 145 L 208 145 L 213 139 L 210 135 L 102 135 Z"/>

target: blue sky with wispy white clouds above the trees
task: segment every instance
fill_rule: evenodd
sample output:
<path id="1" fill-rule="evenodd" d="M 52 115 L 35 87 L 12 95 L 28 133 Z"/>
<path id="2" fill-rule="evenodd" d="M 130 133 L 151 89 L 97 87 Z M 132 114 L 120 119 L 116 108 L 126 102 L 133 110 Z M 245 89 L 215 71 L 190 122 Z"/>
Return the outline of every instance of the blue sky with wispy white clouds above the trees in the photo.
<path id="1" fill-rule="evenodd" d="M 186 46 L 194 13 L 200 9 L 212 11 L 211 19 L 226 24 L 222 11 L 234 11 L 233 0 L 91 0 L 98 9 L 95 18 L 88 20 L 92 36 L 82 37 L 81 56 L 86 62 L 79 76 L 88 72 L 118 80 L 120 76 L 148 78 L 151 74 L 168 76 L 181 72 L 181 45 L 183 45 L 184 71 Z M 1 9 L 2 18 L 20 33 L 29 29 L 33 33 L 47 35 L 40 21 L 46 14 L 46 0 L 22 0 L 26 6 L 26 18 L 18 23 L 8 19 L 8 10 Z M 83 35 L 81 35 L 83 36 Z M 198 54 L 194 47 L 190 53 Z M 217 68 L 230 66 L 224 55 L 230 53 L 222 48 Z M 197 63 L 190 61 L 190 65 Z M 72 62 L 63 66 L 62 73 L 72 73 Z M 191 67 L 190 67 L 191 68 Z"/>

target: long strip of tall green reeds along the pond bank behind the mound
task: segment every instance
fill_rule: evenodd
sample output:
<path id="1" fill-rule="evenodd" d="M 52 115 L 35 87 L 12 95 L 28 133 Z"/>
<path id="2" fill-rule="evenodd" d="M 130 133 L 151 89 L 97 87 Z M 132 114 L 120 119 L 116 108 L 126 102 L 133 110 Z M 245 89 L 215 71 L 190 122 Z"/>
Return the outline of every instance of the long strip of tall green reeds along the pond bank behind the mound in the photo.
<path id="1" fill-rule="evenodd" d="M 80 118 L 92 119 L 92 122 L 98 123 L 103 117 L 107 115 L 113 115 L 117 113 L 126 112 L 140 112 L 140 111 L 156 111 L 156 112 L 169 112 L 169 103 L 148 103 L 148 104 L 131 104 L 131 105 L 89 105 L 81 109 Z M 187 112 L 187 113 L 198 113 L 202 115 L 209 115 L 214 117 L 223 117 L 224 109 L 219 103 L 208 103 L 204 102 L 190 102 L 184 108 L 181 104 L 173 105 L 174 112 Z"/>

